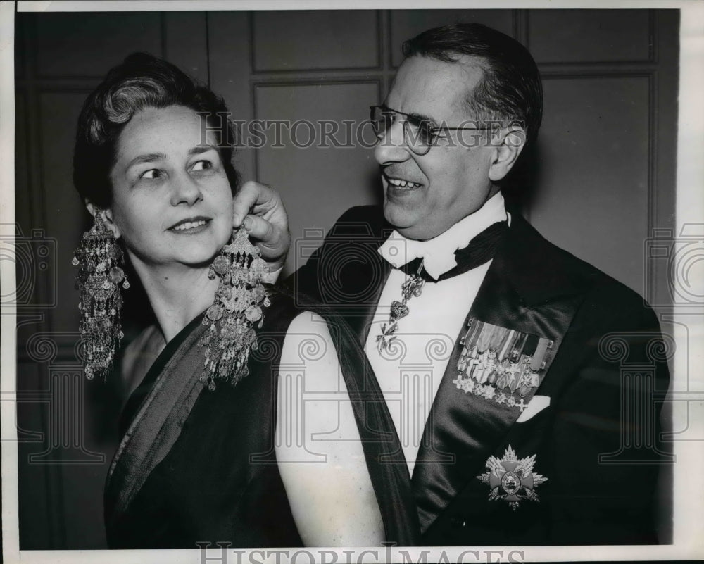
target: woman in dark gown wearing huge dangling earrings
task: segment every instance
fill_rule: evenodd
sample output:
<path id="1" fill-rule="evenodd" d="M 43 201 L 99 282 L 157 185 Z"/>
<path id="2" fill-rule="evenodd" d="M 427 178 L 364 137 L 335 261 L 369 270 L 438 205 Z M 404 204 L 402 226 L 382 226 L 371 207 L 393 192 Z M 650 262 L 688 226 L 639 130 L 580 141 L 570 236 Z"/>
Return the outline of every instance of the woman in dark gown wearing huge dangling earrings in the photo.
<path id="1" fill-rule="evenodd" d="M 122 414 L 108 542 L 410 544 L 408 475 L 395 434 L 379 440 L 393 426 L 355 337 L 263 287 L 243 231 L 230 242 L 237 173 L 224 113 L 173 65 L 134 54 L 80 115 L 74 180 L 95 220 L 75 261 L 87 374 L 108 369 L 121 337 L 115 240 L 156 317 L 141 342 L 161 349 Z M 324 397 L 289 401 L 291 382 Z"/>

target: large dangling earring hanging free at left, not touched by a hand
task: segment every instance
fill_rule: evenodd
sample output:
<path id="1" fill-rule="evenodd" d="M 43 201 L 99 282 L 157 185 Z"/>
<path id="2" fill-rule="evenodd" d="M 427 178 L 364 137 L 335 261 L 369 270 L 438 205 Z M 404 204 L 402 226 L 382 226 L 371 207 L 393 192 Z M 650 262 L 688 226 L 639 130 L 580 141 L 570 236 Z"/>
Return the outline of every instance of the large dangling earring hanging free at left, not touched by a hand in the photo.
<path id="1" fill-rule="evenodd" d="M 120 266 L 122 249 L 105 225 L 99 209 L 96 208 L 93 227 L 83 234 L 71 262 L 80 267 L 76 276 L 76 289 L 80 291 L 80 332 L 84 368 L 86 376 L 92 380 L 96 374 L 107 376 L 115 349 L 124 337 L 120 327 L 122 296 L 119 286 L 122 283 L 123 288 L 130 287 Z"/>

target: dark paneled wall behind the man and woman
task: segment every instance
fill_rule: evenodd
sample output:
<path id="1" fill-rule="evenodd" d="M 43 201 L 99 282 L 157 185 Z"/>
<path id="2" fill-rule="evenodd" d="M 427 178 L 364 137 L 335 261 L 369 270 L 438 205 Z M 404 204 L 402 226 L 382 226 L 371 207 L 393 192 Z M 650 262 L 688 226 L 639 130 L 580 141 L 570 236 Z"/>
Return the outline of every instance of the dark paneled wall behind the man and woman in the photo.
<path id="1" fill-rule="evenodd" d="M 308 148 L 292 146 L 285 128 L 282 146 L 273 146 L 270 129 L 264 146 L 237 154 L 245 178 L 281 192 L 294 239 L 306 230 L 315 239 L 310 230 L 325 232 L 349 206 L 380 199 L 372 151 L 360 143 L 318 146 L 320 124 L 341 124 L 335 138 L 345 144 L 345 120 L 356 127 L 388 92 L 403 39 L 457 20 L 513 35 L 539 63 L 543 127 L 513 187 L 524 215 L 636 291 L 654 280 L 658 302 L 667 302 L 666 273 L 646 263 L 643 243 L 674 220 L 677 11 L 18 14 L 16 217 L 25 236 L 43 230 L 37 236 L 55 249 L 48 268 L 32 270 L 32 299 L 18 315 L 18 389 L 26 399 L 18 413 L 20 546 L 105 542 L 101 496 L 120 390 L 76 379 L 70 265 L 86 227 L 71 159 L 88 92 L 108 68 L 144 50 L 209 82 L 237 120 L 317 124 Z M 299 141 L 306 127 L 297 130 Z M 289 271 L 298 260 L 291 253 Z M 72 434 L 69 444 L 59 429 Z"/>

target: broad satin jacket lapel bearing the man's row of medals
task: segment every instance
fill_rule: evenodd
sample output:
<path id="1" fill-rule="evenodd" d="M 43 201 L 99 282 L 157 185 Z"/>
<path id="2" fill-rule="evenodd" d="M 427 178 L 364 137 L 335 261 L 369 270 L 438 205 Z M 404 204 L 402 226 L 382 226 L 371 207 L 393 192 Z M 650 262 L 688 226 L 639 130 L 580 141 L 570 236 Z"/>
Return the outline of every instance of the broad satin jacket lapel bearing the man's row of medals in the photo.
<path id="1" fill-rule="evenodd" d="M 540 342 L 545 350 L 542 357 L 544 364 L 538 372 L 537 384 L 540 385 L 582 300 L 582 294 L 574 287 L 568 288 L 565 294 L 564 281 L 561 281 L 560 290 L 555 289 L 555 292 L 565 295 L 555 297 L 553 292 L 553 299 L 543 299 L 541 296 L 540 303 L 529 305 L 526 296 L 535 294 L 530 285 L 544 274 L 541 272 L 544 265 L 539 260 L 532 263 L 525 256 L 517 260 L 516 253 L 528 251 L 524 248 L 526 242 L 521 241 L 520 237 L 530 240 L 539 236 L 522 220 L 516 223 L 519 225 L 510 230 L 513 233 L 507 236 L 484 277 L 465 320 L 465 329 L 455 341 L 455 349 L 429 413 L 412 479 L 423 532 L 458 491 L 482 472 L 486 459 L 521 413 L 515 406 L 491 399 L 491 392 L 486 394 L 487 389 L 484 389 L 486 381 L 476 391 L 467 391 L 470 388 L 463 387 L 462 384 L 471 380 L 467 378 L 468 368 L 461 366 L 466 371 L 463 373 L 458 368 L 460 360 L 466 358 L 462 353 L 467 322 L 472 320 L 472 326 L 479 331 L 479 338 L 482 334 L 484 337 L 487 335 L 486 331 L 482 333 L 482 328 L 493 330 L 493 325 L 503 328 L 503 334 L 513 330 L 513 334 L 524 334 L 524 339 Z M 537 240 L 535 243 L 538 248 L 532 249 L 532 253 L 538 255 L 540 245 Z M 526 263 L 534 270 L 529 273 L 530 280 L 524 284 L 527 272 L 521 269 L 525 268 Z M 546 280 L 549 286 L 550 277 Z M 544 290 L 541 288 L 541 292 Z M 542 338 L 540 341 L 539 337 Z M 546 349 L 547 346 L 549 348 Z M 458 380 L 458 376 L 467 380 Z M 525 394 L 524 403 L 528 403 L 536 391 L 533 388 Z"/>

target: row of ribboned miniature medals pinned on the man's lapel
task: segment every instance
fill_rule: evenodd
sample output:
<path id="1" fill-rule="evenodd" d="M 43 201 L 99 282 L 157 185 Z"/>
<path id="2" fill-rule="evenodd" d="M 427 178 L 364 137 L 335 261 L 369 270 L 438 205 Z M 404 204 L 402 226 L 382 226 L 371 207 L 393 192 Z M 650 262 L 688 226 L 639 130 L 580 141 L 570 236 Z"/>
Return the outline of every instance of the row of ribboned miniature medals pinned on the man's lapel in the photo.
<path id="1" fill-rule="evenodd" d="M 540 383 L 543 358 L 553 341 L 477 320 L 467 325 L 453 384 L 465 394 L 523 411 L 526 397 Z"/>

